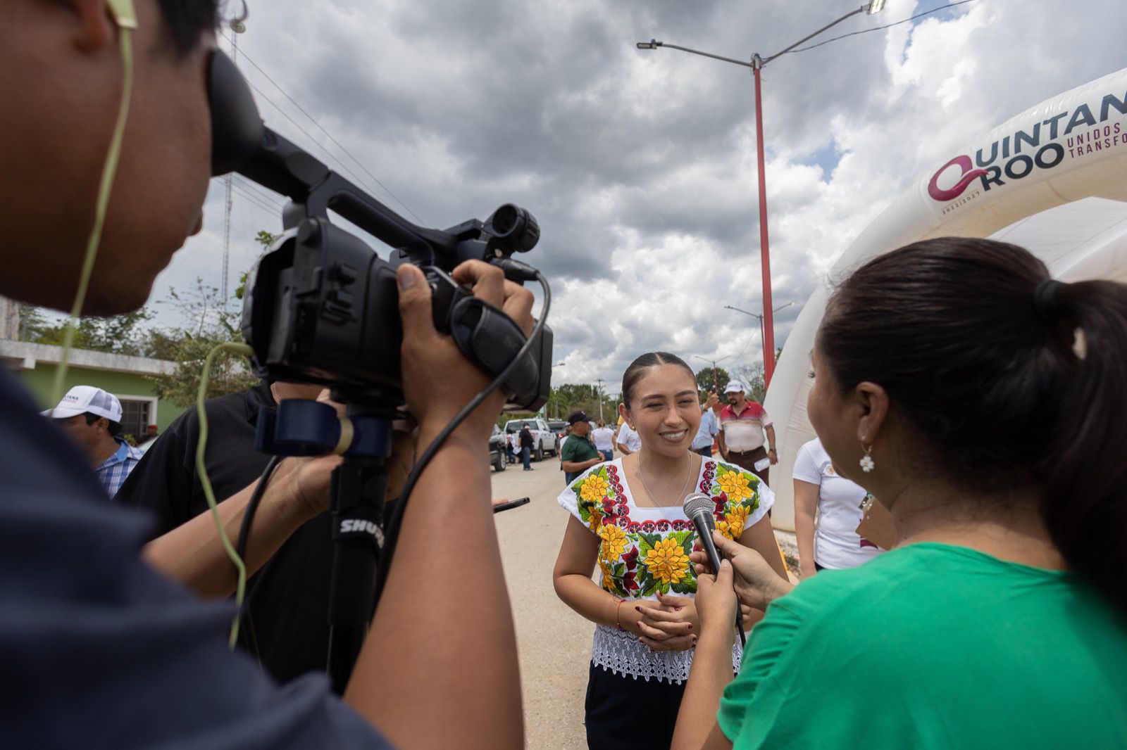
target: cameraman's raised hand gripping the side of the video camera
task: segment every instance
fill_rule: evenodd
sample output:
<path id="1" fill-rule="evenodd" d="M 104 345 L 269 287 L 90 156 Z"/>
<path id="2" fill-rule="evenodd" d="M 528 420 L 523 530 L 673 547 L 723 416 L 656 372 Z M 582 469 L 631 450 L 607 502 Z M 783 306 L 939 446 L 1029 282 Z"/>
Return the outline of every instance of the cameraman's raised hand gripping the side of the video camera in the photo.
<path id="1" fill-rule="evenodd" d="M 403 393 L 421 432 L 433 434 L 445 427 L 491 378 L 462 356 L 451 337 L 435 330 L 431 286 L 423 271 L 403 264 L 397 277 L 403 324 Z M 473 296 L 503 310 L 525 334 L 532 331 L 532 293 L 507 280 L 499 268 L 469 260 L 454 269 L 453 277 L 472 287 Z M 462 428 L 487 436 L 504 404 L 505 394 L 498 389 Z"/>

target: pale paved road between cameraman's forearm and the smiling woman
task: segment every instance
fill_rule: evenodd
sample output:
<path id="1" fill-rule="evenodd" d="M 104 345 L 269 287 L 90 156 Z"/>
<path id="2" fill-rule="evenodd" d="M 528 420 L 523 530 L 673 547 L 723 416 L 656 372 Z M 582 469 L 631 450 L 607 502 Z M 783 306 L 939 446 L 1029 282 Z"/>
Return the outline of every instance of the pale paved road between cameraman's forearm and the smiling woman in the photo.
<path id="1" fill-rule="evenodd" d="M 556 497 L 564 472 L 553 456 L 494 472 L 495 498 L 532 498 L 497 515 L 497 535 L 521 650 L 526 744 L 541 748 L 586 748 L 583 699 L 591 663 L 594 624 L 560 601 L 552 589 L 552 566 L 559 552 L 567 511 Z"/>

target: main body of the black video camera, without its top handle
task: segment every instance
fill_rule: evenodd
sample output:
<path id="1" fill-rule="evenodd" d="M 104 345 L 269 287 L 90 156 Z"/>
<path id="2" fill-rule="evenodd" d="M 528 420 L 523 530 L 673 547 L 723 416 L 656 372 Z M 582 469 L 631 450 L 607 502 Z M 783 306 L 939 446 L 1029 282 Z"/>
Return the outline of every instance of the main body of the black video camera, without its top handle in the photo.
<path id="1" fill-rule="evenodd" d="M 248 276 L 243 295 L 242 331 L 258 374 L 402 403 L 396 284 L 401 262 L 411 260 L 399 253 L 384 261 L 322 218 L 304 218 L 283 233 Z M 499 374 L 523 347 L 524 332 L 443 268 L 419 265 L 431 285 L 435 329 L 452 336 L 482 372 Z M 503 384 L 512 408 L 534 411 L 547 402 L 551 356 L 545 325 Z"/>

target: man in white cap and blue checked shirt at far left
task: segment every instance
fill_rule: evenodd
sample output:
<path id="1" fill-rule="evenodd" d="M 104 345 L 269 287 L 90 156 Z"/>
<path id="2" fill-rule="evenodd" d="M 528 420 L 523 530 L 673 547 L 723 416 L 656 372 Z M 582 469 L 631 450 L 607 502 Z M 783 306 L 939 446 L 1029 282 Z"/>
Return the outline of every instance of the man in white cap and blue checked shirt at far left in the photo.
<path id="1" fill-rule="evenodd" d="M 143 455 L 117 437 L 122 431 L 122 402 L 117 396 L 92 385 L 76 385 L 43 416 L 54 419 L 78 443 L 109 497 L 117 494 Z"/>

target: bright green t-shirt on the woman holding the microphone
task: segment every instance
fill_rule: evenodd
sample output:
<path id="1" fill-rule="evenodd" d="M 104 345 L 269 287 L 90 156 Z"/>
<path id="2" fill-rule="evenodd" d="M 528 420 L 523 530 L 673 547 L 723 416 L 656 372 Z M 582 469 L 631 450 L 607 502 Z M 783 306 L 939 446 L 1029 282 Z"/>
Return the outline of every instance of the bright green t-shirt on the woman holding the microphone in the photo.
<path id="1" fill-rule="evenodd" d="M 1127 625 L 1075 575 L 913 544 L 767 607 L 736 748 L 1127 748 Z"/>

